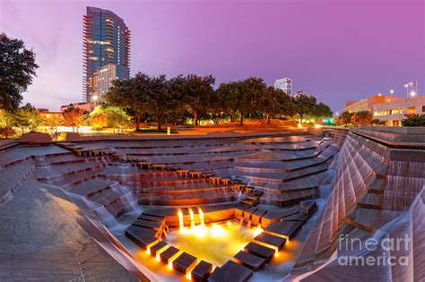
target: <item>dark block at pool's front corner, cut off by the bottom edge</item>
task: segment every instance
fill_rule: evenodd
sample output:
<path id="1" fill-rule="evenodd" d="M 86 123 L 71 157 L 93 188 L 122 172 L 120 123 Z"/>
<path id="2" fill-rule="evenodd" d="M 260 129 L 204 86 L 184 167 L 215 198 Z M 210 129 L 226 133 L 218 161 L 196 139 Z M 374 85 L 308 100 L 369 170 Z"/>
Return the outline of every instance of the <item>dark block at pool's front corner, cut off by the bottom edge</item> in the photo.
<path id="1" fill-rule="evenodd" d="M 251 278 L 253 271 L 236 263 L 227 261 L 221 268 L 216 268 L 212 272 L 208 281 L 211 282 L 246 282 Z"/>

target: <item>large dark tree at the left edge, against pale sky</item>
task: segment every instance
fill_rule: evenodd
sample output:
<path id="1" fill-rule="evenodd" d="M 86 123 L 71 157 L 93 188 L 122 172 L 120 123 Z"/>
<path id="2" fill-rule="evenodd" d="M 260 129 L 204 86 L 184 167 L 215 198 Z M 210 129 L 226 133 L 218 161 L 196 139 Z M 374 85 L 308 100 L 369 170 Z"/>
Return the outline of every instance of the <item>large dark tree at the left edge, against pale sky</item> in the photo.
<path id="1" fill-rule="evenodd" d="M 25 48 L 22 40 L 0 34 L 0 108 L 15 111 L 22 101 L 22 92 L 32 83 L 35 54 Z"/>

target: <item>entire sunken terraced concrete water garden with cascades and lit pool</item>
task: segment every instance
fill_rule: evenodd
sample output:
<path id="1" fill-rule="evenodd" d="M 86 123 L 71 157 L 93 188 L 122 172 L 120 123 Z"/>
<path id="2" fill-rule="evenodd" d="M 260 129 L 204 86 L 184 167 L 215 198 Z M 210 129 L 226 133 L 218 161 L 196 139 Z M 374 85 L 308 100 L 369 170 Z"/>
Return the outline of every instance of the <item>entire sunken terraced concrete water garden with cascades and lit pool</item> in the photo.
<path id="1" fill-rule="evenodd" d="M 0 280 L 423 281 L 425 130 L 0 143 Z"/>

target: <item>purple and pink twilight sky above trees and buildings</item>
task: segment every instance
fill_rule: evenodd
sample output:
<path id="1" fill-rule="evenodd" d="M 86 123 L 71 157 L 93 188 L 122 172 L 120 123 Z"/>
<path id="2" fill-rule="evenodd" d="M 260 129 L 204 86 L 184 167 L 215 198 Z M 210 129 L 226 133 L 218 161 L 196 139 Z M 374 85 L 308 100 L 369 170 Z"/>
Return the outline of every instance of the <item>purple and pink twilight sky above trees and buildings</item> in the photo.
<path id="1" fill-rule="evenodd" d="M 22 38 L 39 69 L 25 102 L 58 110 L 82 99 L 82 14 L 109 9 L 132 30 L 131 73 L 211 73 L 216 84 L 291 77 L 341 111 L 345 100 L 425 93 L 425 1 L 0 0 L 0 31 Z"/>

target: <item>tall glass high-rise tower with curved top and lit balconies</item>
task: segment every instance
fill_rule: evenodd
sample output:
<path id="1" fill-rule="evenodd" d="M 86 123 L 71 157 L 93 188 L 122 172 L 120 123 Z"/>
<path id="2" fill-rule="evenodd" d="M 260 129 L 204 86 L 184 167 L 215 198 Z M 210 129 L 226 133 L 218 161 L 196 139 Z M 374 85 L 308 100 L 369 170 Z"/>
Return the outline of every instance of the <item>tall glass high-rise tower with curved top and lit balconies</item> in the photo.
<path id="1" fill-rule="evenodd" d="M 90 102 L 94 92 L 94 73 L 115 64 L 116 79 L 130 76 L 130 30 L 115 13 L 87 7 L 82 18 L 83 94 Z"/>

